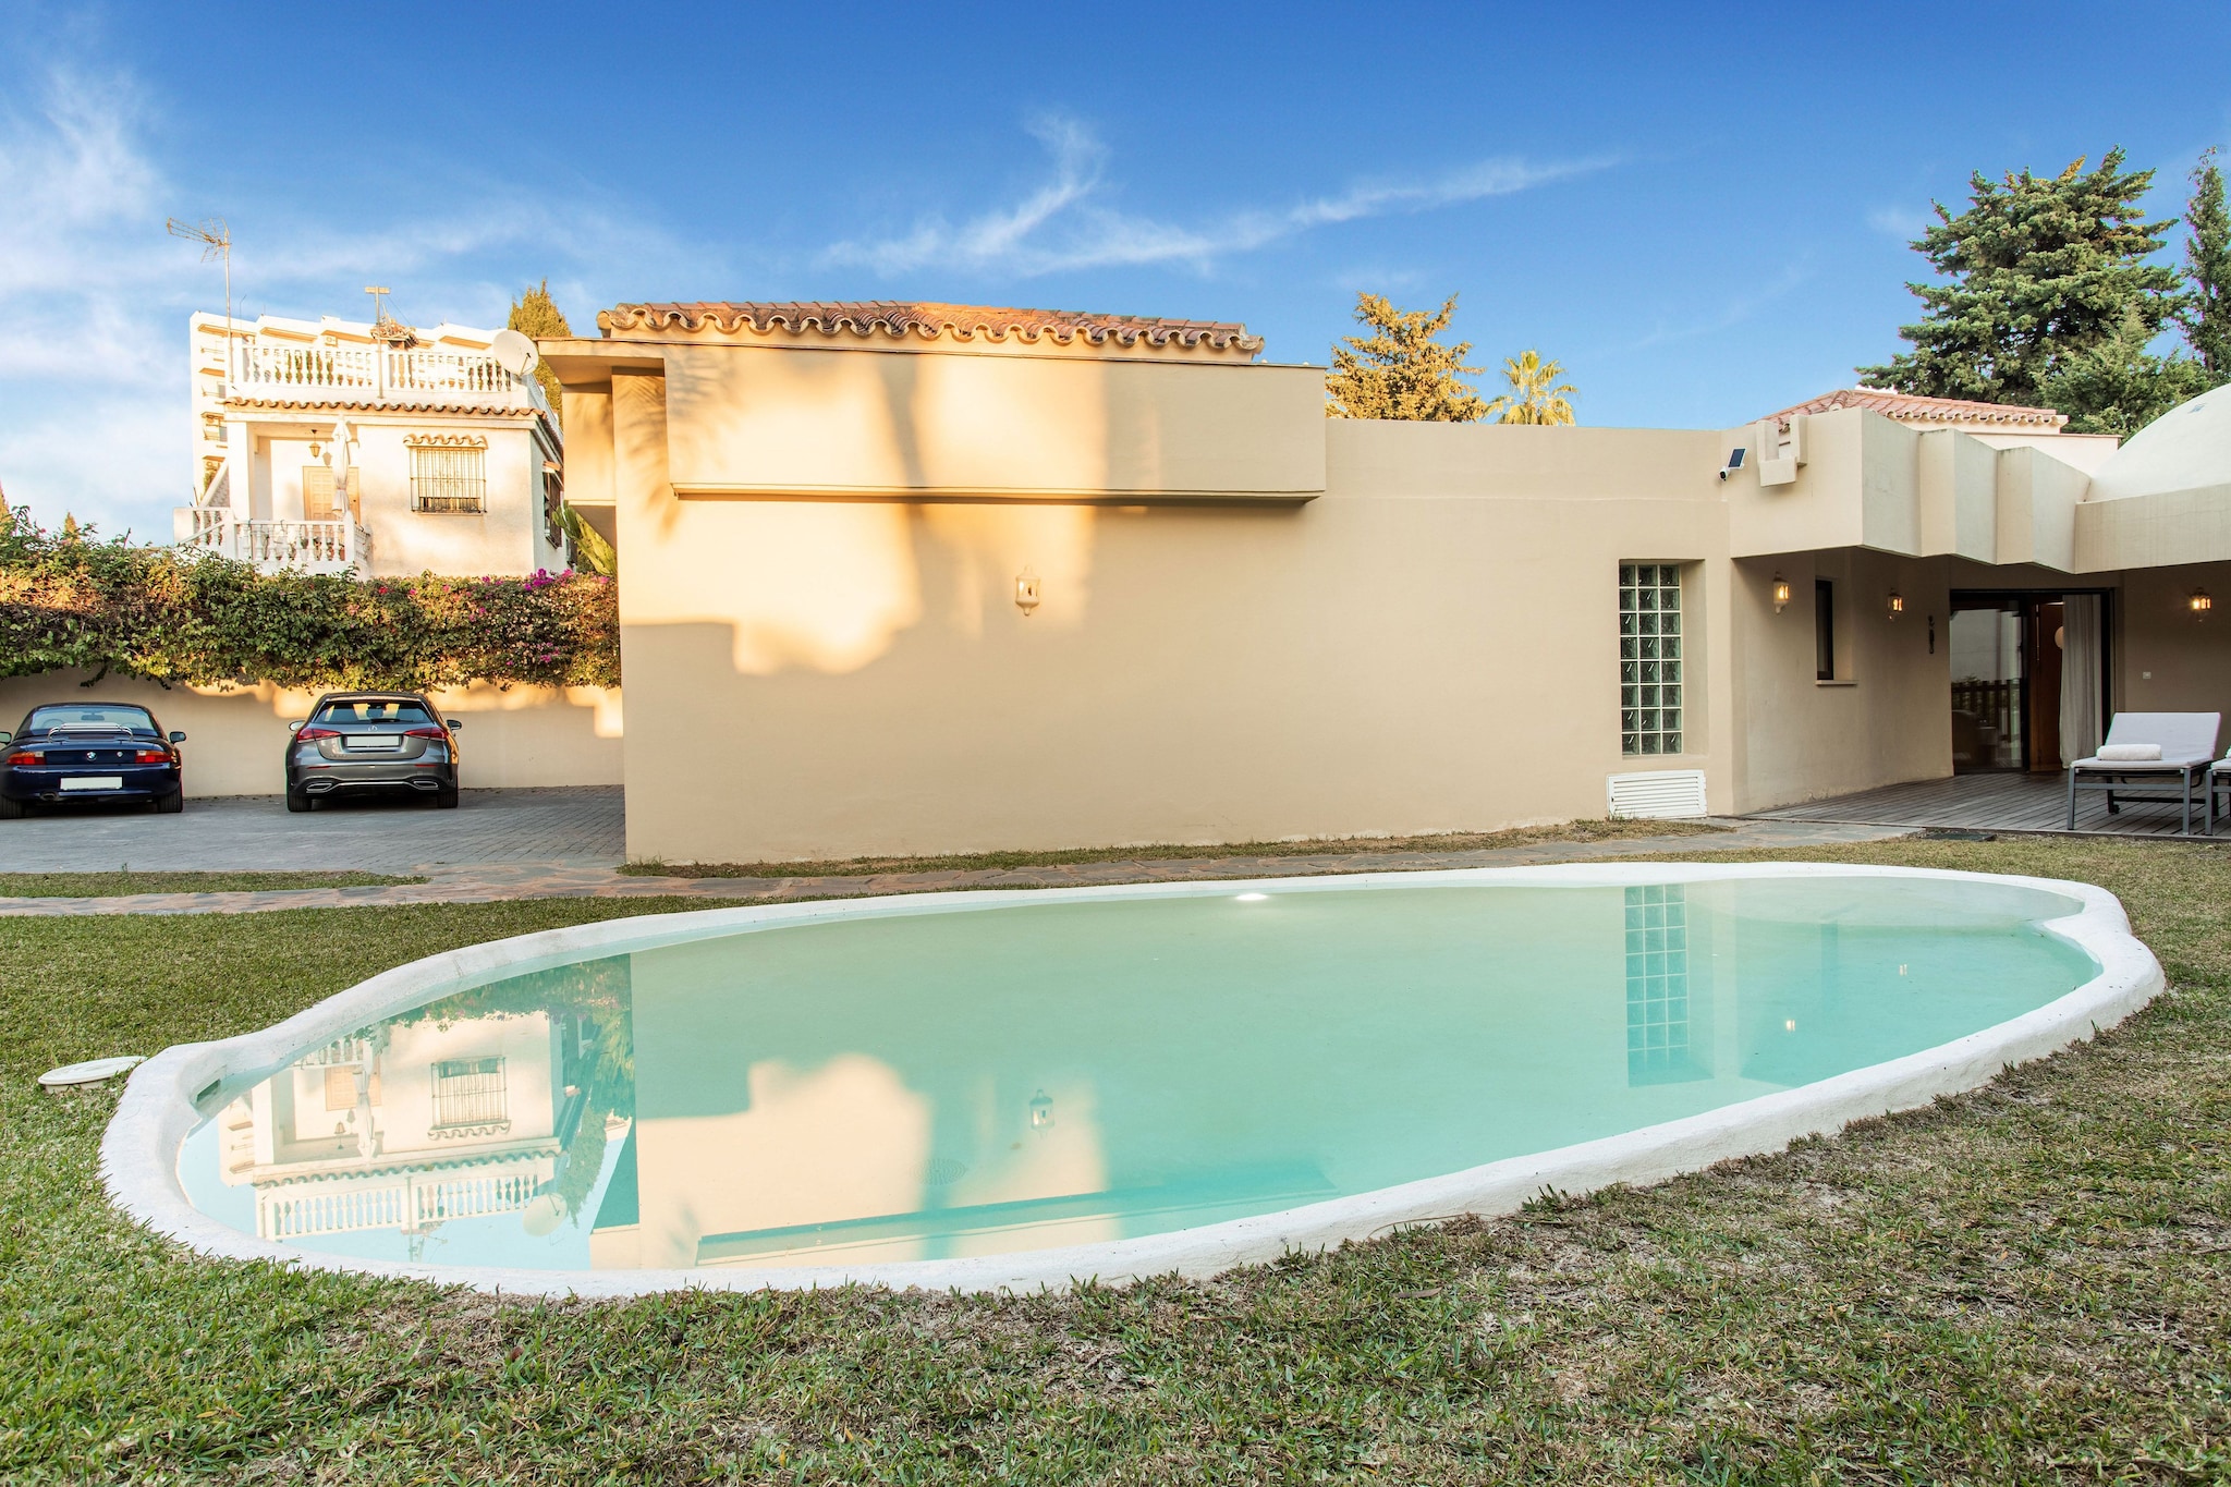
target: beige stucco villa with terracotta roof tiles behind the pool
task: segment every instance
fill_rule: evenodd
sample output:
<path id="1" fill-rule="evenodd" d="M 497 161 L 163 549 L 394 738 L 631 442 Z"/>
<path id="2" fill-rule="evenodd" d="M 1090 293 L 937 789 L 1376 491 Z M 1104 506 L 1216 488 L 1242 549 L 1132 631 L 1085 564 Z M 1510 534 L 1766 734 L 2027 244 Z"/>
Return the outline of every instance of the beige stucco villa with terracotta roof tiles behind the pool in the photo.
<path id="1" fill-rule="evenodd" d="M 638 858 L 1738 814 L 2059 771 L 2117 709 L 2231 700 L 2227 392 L 2122 450 L 1870 392 L 1388 424 L 1232 323 L 598 325 L 542 352 L 567 499 L 627 564 Z"/>

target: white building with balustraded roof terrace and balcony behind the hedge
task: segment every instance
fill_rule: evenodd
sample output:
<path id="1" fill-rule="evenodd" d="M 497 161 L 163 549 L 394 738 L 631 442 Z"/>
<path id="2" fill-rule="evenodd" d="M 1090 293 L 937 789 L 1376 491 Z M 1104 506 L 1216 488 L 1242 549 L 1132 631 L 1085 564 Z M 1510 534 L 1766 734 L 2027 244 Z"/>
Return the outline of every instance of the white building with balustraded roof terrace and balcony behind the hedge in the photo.
<path id="1" fill-rule="evenodd" d="M 564 568 L 558 419 L 493 334 L 194 314 L 176 542 L 265 571 Z"/>

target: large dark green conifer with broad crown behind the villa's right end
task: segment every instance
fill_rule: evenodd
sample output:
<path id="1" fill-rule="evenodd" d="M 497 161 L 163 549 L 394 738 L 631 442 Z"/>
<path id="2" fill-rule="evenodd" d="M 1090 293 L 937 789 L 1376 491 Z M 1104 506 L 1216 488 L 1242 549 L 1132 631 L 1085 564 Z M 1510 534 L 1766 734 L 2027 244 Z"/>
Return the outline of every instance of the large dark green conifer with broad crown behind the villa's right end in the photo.
<path id="1" fill-rule="evenodd" d="M 2177 272 L 2148 263 L 2173 221 L 2148 223 L 2151 169 L 2111 149 L 2097 169 L 1968 178 L 1954 216 L 1943 203 L 1916 241 L 1945 283 L 1910 283 L 1925 314 L 1903 325 L 1914 350 L 1858 368 L 1870 388 L 1986 404 L 2039 404 L 2061 361 L 2160 334 L 2177 310 Z M 2073 370 L 2073 368 L 2070 368 Z M 2084 415 L 2084 408 L 2061 408 Z"/>

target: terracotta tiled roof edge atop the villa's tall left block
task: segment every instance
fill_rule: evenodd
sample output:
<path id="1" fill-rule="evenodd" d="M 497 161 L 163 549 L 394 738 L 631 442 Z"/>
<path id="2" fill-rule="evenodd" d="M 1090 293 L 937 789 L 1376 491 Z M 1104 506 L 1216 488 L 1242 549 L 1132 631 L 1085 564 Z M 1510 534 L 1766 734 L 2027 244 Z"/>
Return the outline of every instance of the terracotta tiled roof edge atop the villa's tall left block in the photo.
<path id="1" fill-rule="evenodd" d="M 839 301 L 698 301 L 698 303 L 651 303 L 614 305 L 596 317 L 605 334 L 620 330 L 703 330 L 734 334 L 750 330 L 765 334 L 788 330 L 790 334 L 819 332 L 825 337 L 906 337 L 915 334 L 935 341 L 950 334 L 957 341 L 984 337 L 988 341 L 1037 341 L 1051 337 L 1069 346 L 1120 348 L 1182 348 L 1218 352 L 1258 352 L 1263 337 L 1247 334 L 1245 325 L 1227 321 L 1169 321 L 1147 314 L 1093 314 L 1089 310 L 1006 310 L 995 305 L 941 305 L 901 299 L 839 299 Z"/>

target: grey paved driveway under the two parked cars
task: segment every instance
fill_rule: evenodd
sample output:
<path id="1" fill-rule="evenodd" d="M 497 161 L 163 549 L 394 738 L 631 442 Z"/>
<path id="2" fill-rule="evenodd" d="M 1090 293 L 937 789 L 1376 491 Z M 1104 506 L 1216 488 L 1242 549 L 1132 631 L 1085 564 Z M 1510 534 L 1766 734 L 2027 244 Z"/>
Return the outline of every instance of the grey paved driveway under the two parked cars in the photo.
<path id="1" fill-rule="evenodd" d="M 480 863 L 616 867 L 622 791 L 469 789 L 453 811 L 422 800 L 323 805 L 283 796 L 187 800 L 176 816 L 78 807 L 0 820 L 0 872 L 426 872 Z"/>

